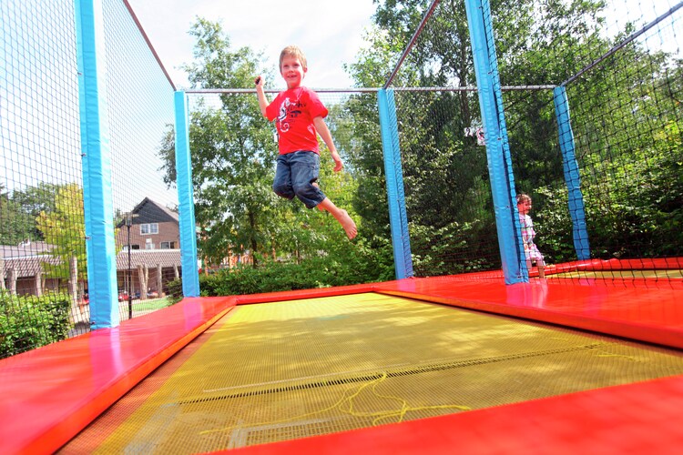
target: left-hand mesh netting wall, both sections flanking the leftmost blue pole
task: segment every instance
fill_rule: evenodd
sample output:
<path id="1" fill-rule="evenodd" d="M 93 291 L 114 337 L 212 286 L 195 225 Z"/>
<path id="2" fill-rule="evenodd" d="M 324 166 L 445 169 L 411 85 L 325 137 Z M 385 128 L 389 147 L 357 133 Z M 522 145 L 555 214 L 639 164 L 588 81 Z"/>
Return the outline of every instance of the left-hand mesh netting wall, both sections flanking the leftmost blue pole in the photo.
<path id="1" fill-rule="evenodd" d="M 164 305 L 142 300 L 179 275 L 178 197 L 157 157 L 173 123 L 173 87 L 126 4 L 103 9 L 111 217 L 127 319 Z M 90 311 L 74 3 L 3 2 L 0 21 L 2 358 L 88 331 Z"/>

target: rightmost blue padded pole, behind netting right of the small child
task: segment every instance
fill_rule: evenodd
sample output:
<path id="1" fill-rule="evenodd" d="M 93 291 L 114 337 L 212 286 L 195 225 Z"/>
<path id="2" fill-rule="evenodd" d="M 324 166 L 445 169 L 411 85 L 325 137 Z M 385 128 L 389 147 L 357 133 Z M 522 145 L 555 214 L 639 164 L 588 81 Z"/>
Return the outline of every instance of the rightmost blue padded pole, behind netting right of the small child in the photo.
<path id="1" fill-rule="evenodd" d="M 555 102 L 560 150 L 562 151 L 562 167 L 565 171 L 569 216 L 572 218 L 574 249 L 576 250 L 576 258 L 586 260 L 590 258 L 588 230 L 586 229 L 586 207 L 584 206 L 584 195 L 581 192 L 581 174 L 576 161 L 574 131 L 569 116 L 566 87 L 555 87 L 553 101 Z"/>

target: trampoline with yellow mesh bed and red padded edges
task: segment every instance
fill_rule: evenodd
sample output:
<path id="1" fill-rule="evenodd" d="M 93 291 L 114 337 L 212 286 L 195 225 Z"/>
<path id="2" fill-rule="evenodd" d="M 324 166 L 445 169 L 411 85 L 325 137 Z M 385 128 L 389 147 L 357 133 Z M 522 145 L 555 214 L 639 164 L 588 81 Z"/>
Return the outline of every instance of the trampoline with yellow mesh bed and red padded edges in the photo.
<path id="1" fill-rule="evenodd" d="M 3 360 L 0 444 L 673 453 L 681 296 L 678 278 L 471 274 L 185 298 Z"/>

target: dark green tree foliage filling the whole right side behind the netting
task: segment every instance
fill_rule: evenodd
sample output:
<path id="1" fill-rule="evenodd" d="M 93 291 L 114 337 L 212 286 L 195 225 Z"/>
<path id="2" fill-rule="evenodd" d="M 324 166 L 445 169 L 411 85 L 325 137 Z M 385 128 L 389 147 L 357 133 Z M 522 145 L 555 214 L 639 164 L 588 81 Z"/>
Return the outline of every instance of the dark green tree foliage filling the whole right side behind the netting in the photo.
<path id="1" fill-rule="evenodd" d="M 432 2 L 376 4 L 369 45 L 349 66 L 361 86 L 384 84 Z M 619 35 L 605 33 L 604 7 L 601 0 L 492 1 L 501 84 L 563 83 L 636 31 L 631 24 Z M 680 254 L 680 74 L 680 62 L 634 42 L 568 86 L 595 257 Z M 464 87 L 474 81 L 462 2 L 442 1 L 392 86 Z M 466 91 L 395 96 L 415 269 L 443 274 L 499 267 L 486 157 L 483 147 L 460 134 L 478 120 L 477 97 Z M 369 121 L 376 113 L 374 101 L 367 101 L 352 108 Z M 552 92 L 504 92 L 504 105 L 515 190 L 535 196 L 540 246 L 548 258 L 573 260 Z M 362 180 L 365 194 L 385 185 L 380 148 L 372 146 L 355 158 L 359 175 L 377 175 Z M 362 197 L 357 202 L 362 205 Z M 362 213 L 377 221 L 364 219 L 366 225 L 382 226 L 376 213 Z"/>

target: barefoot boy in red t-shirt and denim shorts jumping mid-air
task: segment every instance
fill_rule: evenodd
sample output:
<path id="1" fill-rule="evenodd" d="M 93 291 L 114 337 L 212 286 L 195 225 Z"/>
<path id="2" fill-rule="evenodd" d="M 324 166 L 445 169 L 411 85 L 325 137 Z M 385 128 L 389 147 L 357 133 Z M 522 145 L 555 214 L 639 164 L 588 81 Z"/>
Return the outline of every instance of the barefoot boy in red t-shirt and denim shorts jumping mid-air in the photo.
<path id="1" fill-rule="evenodd" d="M 275 170 L 273 191 L 287 199 L 299 197 L 307 208 L 327 210 L 342 225 L 346 237 L 356 237 L 356 224 L 342 208 L 336 207 L 318 187 L 320 150 L 318 136 L 330 149 L 334 160 L 334 172 L 342 170 L 342 158 L 334 146 L 330 129 L 323 118 L 328 111 L 318 95 L 301 86 L 308 71 L 306 57 L 301 49 L 290 45 L 280 52 L 280 75 L 287 83 L 287 90 L 280 92 L 269 104 L 263 91 L 263 77 L 256 77 L 256 95 L 260 112 L 270 121 L 276 120 L 280 156 Z"/>

